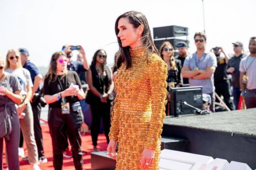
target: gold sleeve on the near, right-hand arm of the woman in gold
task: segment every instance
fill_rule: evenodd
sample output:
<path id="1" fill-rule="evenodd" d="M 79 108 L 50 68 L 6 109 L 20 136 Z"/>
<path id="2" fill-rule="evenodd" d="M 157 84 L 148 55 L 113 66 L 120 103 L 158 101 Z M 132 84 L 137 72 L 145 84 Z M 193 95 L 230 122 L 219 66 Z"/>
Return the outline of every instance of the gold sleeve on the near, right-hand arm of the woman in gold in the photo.
<path id="1" fill-rule="evenodd" d="M 160 141 L 165 118 L 167 65 L 158 56 L 149 60 L 148 77 L 151 90 L 152 115 L 149 123 L 147 144 L 145 147 L 156 149 Z"/>

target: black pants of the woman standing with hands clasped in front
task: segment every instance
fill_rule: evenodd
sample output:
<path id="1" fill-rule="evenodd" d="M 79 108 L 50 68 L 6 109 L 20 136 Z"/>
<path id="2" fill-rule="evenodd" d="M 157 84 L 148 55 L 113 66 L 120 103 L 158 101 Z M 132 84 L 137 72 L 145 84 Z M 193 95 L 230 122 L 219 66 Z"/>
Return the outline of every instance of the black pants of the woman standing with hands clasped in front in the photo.
<path id="1" fill-rule="evenodd" d="M 109 143 L 108 133 L 110 130 L 110 109 L 111 105 L 109 103 L 94 102 L 90 104 L 91 108 L 91 138 L 92 144 L 97 146 L 99 131 L 100 131 L 100 120 L 102 118 L 104 133 Z"/>

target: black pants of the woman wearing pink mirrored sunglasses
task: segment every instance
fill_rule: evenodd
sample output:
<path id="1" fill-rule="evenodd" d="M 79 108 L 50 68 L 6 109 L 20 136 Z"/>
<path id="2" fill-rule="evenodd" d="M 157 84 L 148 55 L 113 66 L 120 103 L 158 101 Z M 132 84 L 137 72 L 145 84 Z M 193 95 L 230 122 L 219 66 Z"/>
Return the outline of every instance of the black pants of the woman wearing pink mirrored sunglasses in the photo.
<path id="1" fill-rule="evenodd" d="M 67 146 L 67 136 L 72 147 L 73 163 L 76 169 L 83 168 L 81 134 L 82 111 L 62 114 L 59 108 L 50 108 L 48 113 L 48 126 L 52 138 L 52 150 L 54 155 L 54 169 L 62 169 L 63 150 Z"/>

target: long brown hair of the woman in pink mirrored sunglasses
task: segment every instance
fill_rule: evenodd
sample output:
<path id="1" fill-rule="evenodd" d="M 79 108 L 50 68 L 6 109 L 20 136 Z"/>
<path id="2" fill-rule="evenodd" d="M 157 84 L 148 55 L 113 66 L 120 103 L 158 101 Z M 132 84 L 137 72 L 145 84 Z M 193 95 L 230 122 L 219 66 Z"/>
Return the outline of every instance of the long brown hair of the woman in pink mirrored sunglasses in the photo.
<path id="1" fill-rule="evenodd" d="M 50 61 L 50 65 L 49 65 L 49 69 L 48 72 L 46 73 L 46 78 L 49 77 L 48 83 L 50 84 L 50 82 L 55 82 L 57 79 L 57 76 L 55 75 L 56 70 L 57 70 L 57 59 L 60 56 L 65 56 L 67 57 L 67 55 L 64 52 L 55 52 L 52 56 L 51 56 L 51 61 Z M 61 76 L 61 78 L 63 78 L 66 74 L 63 74 L 63 76 Z"/>

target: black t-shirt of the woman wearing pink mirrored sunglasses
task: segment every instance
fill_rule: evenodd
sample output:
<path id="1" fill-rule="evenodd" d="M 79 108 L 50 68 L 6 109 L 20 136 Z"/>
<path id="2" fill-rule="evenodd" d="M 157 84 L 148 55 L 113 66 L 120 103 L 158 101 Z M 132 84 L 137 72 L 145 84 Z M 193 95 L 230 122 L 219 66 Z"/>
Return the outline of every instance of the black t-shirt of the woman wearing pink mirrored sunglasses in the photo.
<path id="1" fill-rule="evenodd" d="M 74 85 L 78 85 L 80 89 L 82 88 L 80 79 L 75 71 L 68 71 L 68 74 L 65 75 L 62 79 L 61 76 L 62 75 L 58 75 L 59 80 L 57 78 L 54 82 L 51 81 L 50 84 L 48 83 L 49 77 L 45 78 L 45 83 L 43 84 L 43 95 L 55 95 L 56 93 L 66 90 L 71 83 L 73 83 Z M 61 90 L 60 83 L 63 87 L 63 90 Z M 68 96 L 65 97 L 65 99 L 67 100 L 67 102 L 69 102 L 69 104 L 80 101 L 77 96 Z M 49 104 L 49 107 L 61 108 L 61 100 Z"/>

